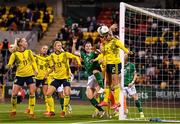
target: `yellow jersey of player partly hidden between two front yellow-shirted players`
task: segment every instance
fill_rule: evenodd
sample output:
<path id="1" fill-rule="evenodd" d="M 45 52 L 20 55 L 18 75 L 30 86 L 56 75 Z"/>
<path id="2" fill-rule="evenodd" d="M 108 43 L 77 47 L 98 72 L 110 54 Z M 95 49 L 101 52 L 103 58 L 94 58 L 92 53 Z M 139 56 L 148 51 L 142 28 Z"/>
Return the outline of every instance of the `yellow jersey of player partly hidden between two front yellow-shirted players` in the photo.
<path id="1" fill-rule="evenodd" d="M 44 58 L 44 60 L 43 60 L 43 58 Z M 48 65 L 48 62 L 46 61 L 46 57 L 36 55 L 35 61 L 36 61 L 37 68 L 38 68 L 38 75 L 35 78 L 38 80 L 43 80 L 45 77 L 45 74 L 49 70 L 49 65 Z"/>

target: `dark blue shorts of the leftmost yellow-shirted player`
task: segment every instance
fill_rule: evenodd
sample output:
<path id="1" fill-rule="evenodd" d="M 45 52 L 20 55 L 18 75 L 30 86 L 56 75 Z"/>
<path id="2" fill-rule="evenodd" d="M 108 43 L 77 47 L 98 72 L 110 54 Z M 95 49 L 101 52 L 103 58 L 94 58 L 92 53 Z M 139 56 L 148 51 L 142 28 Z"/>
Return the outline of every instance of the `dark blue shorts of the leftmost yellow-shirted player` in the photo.
<path id="1" fill-rule="evenodd" d="M 35 81 L 33 80 L 33 76 L 29 76 L 29 77 L 19 77 L 16 76 L 16 79 L 14 81 L 14 84 L 17 84 L 19 86 L 24 86 L 24 83 L 26 82 L 26 85 L 30 85 L 35 83 Z"/>

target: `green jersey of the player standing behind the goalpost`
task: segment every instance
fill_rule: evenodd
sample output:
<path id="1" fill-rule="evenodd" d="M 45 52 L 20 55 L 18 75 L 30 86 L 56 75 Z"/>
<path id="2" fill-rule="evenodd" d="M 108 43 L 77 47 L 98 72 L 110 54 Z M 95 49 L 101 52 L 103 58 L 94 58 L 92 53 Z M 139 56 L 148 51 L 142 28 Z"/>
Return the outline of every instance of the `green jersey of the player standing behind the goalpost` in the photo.
<path id="1" fill-rule="evenodd" d="M 133 63 L 128 62 L 126 65 L 124 65 L 124 86 L 125 87 L 128 86 L 128 84 L 132 82 L 135 72 L 136 72 L 136 68 Z"/>

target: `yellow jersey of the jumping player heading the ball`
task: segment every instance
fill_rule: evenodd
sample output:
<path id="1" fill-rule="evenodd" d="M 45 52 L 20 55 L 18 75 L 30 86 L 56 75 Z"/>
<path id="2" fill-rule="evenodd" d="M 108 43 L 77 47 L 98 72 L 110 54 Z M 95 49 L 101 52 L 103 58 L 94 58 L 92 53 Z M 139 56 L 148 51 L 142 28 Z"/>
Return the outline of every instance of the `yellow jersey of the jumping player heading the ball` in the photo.
<path id="1" fill-rule="evenodd" d="M 102 53 L 106 58 L 106 64 L 119 64 L 121 62 L 120 49 L 129 53 L 129 50 L 117 38 L 112 38 L 109 42 L 104 43 Z"/>

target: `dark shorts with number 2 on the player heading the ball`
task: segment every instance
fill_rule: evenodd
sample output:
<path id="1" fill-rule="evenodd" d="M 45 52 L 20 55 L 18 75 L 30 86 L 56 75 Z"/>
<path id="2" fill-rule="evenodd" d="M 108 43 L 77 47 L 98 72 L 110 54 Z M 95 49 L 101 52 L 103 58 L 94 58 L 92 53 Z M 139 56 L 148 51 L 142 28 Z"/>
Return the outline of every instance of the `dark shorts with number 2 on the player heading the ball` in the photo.
<path id="1" fill-rule="evenodd" d="M 120 74 L 121 73 L 121 63 L 119 64 L 107 64 L 106 72 L 108 74 Z"/>

